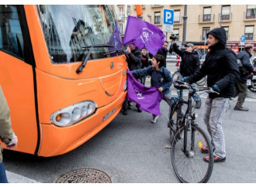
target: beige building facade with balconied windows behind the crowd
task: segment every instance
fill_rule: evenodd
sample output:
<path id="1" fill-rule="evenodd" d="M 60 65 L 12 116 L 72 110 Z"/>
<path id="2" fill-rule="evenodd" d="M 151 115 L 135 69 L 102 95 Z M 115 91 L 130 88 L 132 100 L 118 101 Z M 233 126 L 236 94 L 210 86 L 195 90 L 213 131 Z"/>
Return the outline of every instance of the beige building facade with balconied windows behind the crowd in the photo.
<path id="1" fill-rule="evenodd" d="M 128 15 L 136 16 L 135 5 L 115 5 L 122 34 Z M 173 9 L 173 34 L 178 34 L 182 41 L 183 15 L 185 5 L 143 5 L 142 18 L 162 29 L 163 8 Z M 216 27 L 223 27 L 227 32 L 227 46 L 236 53 L 240 46 L 240 36 L 245 36 L 245 43 L 254 44 L 256 49 L 256 5 L 187 5 L 186 42 L 193 42 L 199 49 L 205 48 L 206 33 Z M 164 33 L 166 40 L 171 41 L 172 33 Z"/>

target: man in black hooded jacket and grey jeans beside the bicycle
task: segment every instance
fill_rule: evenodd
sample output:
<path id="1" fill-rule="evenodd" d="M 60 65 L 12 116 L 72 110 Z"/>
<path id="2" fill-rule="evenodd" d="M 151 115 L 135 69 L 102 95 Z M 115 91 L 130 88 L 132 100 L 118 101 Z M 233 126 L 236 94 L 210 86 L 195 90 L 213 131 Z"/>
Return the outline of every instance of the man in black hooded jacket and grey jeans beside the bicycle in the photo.
<path id="1" fill-rule="evenodd" d="M 209 52 L 199 71 L 185 79 L 188 83 L 195 83 L 207 75 L 208 87 L 220 94 L 209 93 L 206 98 L 204 121 L 211 136 L 214 162 L 226 161 L 225 140 L 222 121 L 227 108 L 230 107 L 230 98 L 234 97 L 234 83 L 239 77 L 237 57 L 233 50 L 226 46 L 227 35 L 225 29 L 215 28 L 207 33 Z M 207 147 L 201 148 L 208 152 Z M 209 162 L 209 156 L 203 158 Z"/>

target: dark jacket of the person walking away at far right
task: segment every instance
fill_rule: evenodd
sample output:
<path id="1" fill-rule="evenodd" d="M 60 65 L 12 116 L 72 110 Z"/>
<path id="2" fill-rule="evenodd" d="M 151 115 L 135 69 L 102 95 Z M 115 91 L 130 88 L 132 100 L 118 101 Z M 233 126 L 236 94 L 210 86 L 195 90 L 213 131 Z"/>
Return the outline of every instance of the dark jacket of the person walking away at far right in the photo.
<path id="1" fill-rule="evenodd" d="M 246 83 L 248 74 L 254 70 L 254 67 L 251 66 L 250 58 L 251 58 L 251 53 L 249 53 L 247 50 L 241 51 L 240 53 L 237 54 L 237 59 L 241 60 L 243 67 L 247 71 L 246 74 L 243 74 L 243 75 L 240 74 L 240 77 L 238 78 L 238 80 L 241 83 Z"/>

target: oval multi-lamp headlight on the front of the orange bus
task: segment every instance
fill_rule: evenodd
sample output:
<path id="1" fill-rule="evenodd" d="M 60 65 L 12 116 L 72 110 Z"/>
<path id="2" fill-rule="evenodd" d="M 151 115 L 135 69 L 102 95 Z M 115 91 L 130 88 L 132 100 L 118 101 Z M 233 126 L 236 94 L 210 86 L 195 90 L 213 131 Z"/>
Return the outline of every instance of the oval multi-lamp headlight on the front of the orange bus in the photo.
<path id="1" fill-rule="evenodd" d="M 94 114 L 96 107 L 97 104 L 92 100 L 81 101 L 51 114 L 50 122 L 60 127 L 67 127 Z"/>

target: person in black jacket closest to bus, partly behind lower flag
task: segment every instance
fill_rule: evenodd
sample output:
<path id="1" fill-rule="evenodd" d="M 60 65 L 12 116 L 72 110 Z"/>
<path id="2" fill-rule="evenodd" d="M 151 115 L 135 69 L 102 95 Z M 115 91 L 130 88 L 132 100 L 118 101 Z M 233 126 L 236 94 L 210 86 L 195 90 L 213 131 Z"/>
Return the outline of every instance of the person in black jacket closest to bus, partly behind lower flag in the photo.
<path id="1" fill-rule="evenodd" d="M 140 52 L 140 49 L 137 49 L 137 47 L 134 44 L 130 44 L 126 49 L 125 54 L 127 56 L 127 63 L 128 63 L 129 70 L 139 70 L 141 68 L 141 59 L 142 59 L 142 54 Z M 128 110 L 128 107 L 130 107 L 129 105 L 131 104 L 128 103 L 128 100 L 126 99 L 123 102 L 123 115 L 128 114 L 127 110 Z M 137 111 L 141 112 L 138 105 L 136 105 L 136 107 L 137 107 Z"/>

